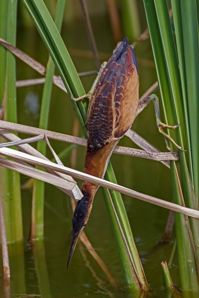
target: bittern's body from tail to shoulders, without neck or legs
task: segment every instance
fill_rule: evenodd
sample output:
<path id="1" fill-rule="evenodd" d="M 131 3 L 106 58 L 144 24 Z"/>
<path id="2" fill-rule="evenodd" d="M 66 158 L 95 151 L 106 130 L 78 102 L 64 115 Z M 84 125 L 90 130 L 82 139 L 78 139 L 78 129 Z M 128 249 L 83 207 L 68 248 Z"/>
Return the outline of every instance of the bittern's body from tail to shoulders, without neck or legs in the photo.
<path id="1" fill-rule="evenodd" d="M 134 50 L 125 38 L 104 67 L 88 120 L 87 151 L 117 141 L 137 114 L 139 77 Z"/>

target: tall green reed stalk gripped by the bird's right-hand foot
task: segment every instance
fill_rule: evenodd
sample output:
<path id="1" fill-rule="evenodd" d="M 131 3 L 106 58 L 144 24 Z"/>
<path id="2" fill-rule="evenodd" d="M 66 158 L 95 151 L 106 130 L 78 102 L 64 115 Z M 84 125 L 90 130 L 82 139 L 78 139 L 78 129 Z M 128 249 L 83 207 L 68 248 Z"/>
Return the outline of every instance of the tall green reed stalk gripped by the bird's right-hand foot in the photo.
<path id="1" fill-rule="evenodd" d="M 188 143 L 190 141 L 188 135 L 189 127 L 187 126 L 188 111 L 184 110 L 187 108 L 185 98 L 186 88 L 184 86 L 182 88 L 185 78 L 183 76 L 183 68 L 179 70 L 178 67 L 178 59 L 181 61 L 181 67 L 183 63 L 182 47 L 181 51 L 179 50 L 176 52 L 166 0 L 144 0 L 144 6 L 150 31 L 151 45 L 156 64 L 156 72 L 165 120 L 168 124 L 178 123 L 181 121 L 180 129 L 176 130 L 178 144 L 182 145 L 183 149 L 188 148 L 189 150 L 191 144 Z M 175 22 L 175 25 L 180 26 L 180 22 Z M 180 31 L 180 28 L 176 29 L 178 34 Z M 177 50 L 178 49 L 180 49 L 179 44 Z M 194 209 L 198 210 L 186 165 L 185 157 L 187 154 L 181 151 L 179 152 L 179 155 L 180 165 L 179 163 L 176 163 L 176 165 L 178 173 L 182 179 L 183 197 L 185 198 L 185 202 L 188 207 L 193 206 Z M 191 169 L 191 163 L 193 163 L 193 161 L 190 156 L 191 155 L 189 154 Z M 183 205 L 184 202 L 181 195 L 182 190 L 181 186 L 178 184 L 178 174 L 174 162 L 171 162 L 170 166 L 172 174 L 173 200 L 174 203 Z M 193 246 L 196 247 L 198 245 L 199 228 L 198 222 L 190 220 L 190 224 L 191 229 L 189 228 L 188 218 L 183 215 L 179 215 L 178 213 L 175 214 L 181 287 L 185 290 L 191 289 L 198 291 L 198 264 L 197 261 L 195 261 L 195 248 Z M 193 265 L 191 268 L 189 266 L 190 260 Z"/>

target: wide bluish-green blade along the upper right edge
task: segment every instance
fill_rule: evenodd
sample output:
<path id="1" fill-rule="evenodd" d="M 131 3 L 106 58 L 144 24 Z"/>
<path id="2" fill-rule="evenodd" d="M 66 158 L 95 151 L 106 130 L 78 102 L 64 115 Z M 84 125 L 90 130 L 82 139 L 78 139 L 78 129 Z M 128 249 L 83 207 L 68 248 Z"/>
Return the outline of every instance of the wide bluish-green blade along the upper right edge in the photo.
<path id="1" fill-rule="evenodd" d="M 194 190 L 198 194 L 199 186 L 199 50 L 196 1 L 181 0 L 182 33 L 188 94 L 188 112 L 191 133 L 191 151 L 193 161 Z"/>

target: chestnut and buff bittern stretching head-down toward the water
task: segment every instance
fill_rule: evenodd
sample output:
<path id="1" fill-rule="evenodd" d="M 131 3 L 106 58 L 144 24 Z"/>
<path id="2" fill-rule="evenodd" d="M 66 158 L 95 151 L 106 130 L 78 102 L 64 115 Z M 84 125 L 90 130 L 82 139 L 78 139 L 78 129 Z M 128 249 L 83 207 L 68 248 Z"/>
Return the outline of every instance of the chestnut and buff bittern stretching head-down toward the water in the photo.
<path id="1" fill-rule="evenodd" d="M 130 129 L 135 117 L 151 100 L 155 107 L 156 124 L 165 138 L 167 149 L 170 150 L 166 138 L 169 138 L 178 149 L 181 149 L 163 131 L 163 127 L 175 129 L 179 124 L 168 126 L 162 123 L 156 95 L 150 95 L 139 101 L 138 91 L 137 61 L 132 46 L 128 45 L 128 38 L 125 38 L 118 43 L 109 61 L 102 64 L 90 92 L 80 98 L 72 98 L 74 101 L 89 98 L 85 173 L 103 178 L 109 158 L 119 139 Z M 82 184 L 81 191 L 84 197 L 77 203 L 74 210 L 68 265 L 79 234 L 87 224 L 97 188 L 98 185 L 87 181 Z"/>

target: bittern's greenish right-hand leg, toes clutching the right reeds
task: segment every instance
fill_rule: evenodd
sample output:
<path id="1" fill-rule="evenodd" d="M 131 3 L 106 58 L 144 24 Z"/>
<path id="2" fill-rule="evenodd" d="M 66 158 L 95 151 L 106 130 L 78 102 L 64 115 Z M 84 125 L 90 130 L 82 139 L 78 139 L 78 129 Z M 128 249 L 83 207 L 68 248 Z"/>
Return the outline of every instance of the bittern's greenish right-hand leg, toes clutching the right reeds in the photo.
<path id="1" fill-rule="evenodd" d="M 153 101 L 153 105 L 154 105 L 154 108 L 155 108 L 156 126 L 158 127 L 159 132 L 163 135 L 163 137 L 165 139 L 166 148 L 170 152 L 172 152 L 171 151 L 171 148 L 168 145 L 168 141 L 167 141 L 167 139 L 168 139 L 168 140 L 170 140 L 175 145 L 175 147 L 177 147 L 178 149 L 182 150 L 182 148 L 178 144 L 176 144 L 175 141 L 169 135 L 166 134 L 166 132 L 163 131 L 163 128 L 176 129 L 180 125 L 180 123 L 178 125 L 170 126 L 170 125 L 164 124 L 161 121 L 161 119 L 160 119 L 160 108 L 159 108 L 159 99 L 158 99 L 158 97 L 155 94 L 152 94 L 150 96 L 147 96 L 147 97 L 141 99 L 138 102 L 137 115 L 147 106 L 147 104 L 151 100 Z"/>

